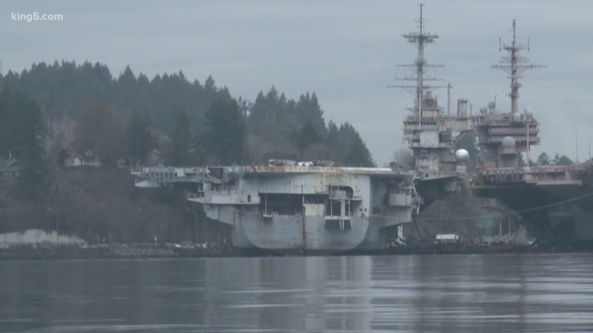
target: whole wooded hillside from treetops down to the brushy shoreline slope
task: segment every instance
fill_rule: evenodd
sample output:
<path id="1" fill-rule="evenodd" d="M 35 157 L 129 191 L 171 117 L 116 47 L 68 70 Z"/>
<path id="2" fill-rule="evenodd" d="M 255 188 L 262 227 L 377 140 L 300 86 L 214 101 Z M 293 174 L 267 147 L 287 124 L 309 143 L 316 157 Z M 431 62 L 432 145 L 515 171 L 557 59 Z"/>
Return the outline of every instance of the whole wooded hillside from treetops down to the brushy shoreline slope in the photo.
<path id="1" fill-rule="evenodd" d="M 100 156 L 101 168 L 63 168 L 66 142 Z M 167 165 L 262 164 L 270 158 L 329 159 L 372 166 L 358 132 L 326 123 L 317 95 L 296 100 L 272 87 L 253 101 L 234 97 L 209 77 L 183 73 L 152 79 L 130 68 L 40 63 L 0 76 L 0 162 L 17 159 L 20 175 L 0 177 L 0 232 L 59 229 L 91 242 L 192 240 L 196 209 L 180 188 L 143 191 L 128 165 L 157 148 Z M 194 204 L 195 205 L 195 204 Z M 51 209 L 51 210 L 50 210 Z M 199 212 L 199 239 L 228 230 Z"/>

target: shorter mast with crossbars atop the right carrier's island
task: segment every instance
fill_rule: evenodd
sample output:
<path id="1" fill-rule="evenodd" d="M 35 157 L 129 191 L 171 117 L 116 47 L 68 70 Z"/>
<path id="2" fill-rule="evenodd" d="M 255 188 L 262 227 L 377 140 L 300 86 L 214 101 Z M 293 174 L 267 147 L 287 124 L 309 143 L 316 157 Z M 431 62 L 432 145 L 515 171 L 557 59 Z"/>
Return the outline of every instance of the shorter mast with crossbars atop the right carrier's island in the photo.
<path id="1" fill-rule="evenodd" d="M 495 69 L 502 69 L 503 71 L 509 73 L 509 78 L 511 79 L 511 114 L 515 114 L 519 111 L 519 88 L 521 84 L 519 83 L 519 79 L 522 79 L 521 76 L 522 72 L 527 71 L 527 69 L 532 68 L 545 68 L 546 65 L 533 65 L 530 63 L 529 59 L 524 56 L 519 56 L 520 50 L 530 50 L 529 48 L 529 39 L 527 39 L 527 46 L 521 43 L 517 43 L 517 23 L 513 20 L 513 40 L 511 44 L 500 44 L 498 50 L 506 50 L 509 52 L 510 56 L 503 56 L 500 61 L 499 65 L 492 65 L 490 68 Z"/>

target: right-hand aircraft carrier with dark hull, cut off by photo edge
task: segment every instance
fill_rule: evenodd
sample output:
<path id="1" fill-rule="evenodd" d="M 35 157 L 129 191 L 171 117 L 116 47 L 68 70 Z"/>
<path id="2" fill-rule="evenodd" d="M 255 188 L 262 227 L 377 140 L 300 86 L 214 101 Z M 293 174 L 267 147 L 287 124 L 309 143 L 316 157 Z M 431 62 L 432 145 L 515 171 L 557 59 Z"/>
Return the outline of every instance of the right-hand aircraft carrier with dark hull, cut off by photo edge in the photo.
<path id="1" fill-rule="evenodd" d="M 589 246 L 593 241 L 593 160 L 572 165 L 519 164 L 522 153 L 529 161 L 531 146 L 540 144 L 533 110 L 525 106 L 519 111 L 519 79 L 528 69 L 546 66 L 530 63 L 522 55 L 530 46 L 517 41 L 515 20 L 511 31 L 512 40 L 499 44 L 499 51 L 508 56 L 492 66 L 509 74 L 511 110 L 501 112 L 490 102 L 474 116 L 480 145 L 474 193 L 498 198 L 521 214 L 538 241 Z"/>

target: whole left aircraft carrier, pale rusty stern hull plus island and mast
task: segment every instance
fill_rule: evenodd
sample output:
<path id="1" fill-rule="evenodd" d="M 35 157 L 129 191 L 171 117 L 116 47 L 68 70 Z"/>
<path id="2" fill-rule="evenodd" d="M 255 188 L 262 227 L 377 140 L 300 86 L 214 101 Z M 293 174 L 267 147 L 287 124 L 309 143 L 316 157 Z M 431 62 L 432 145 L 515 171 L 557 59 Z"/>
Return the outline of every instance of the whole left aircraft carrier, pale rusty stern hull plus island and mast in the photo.
<path id="1" fill-rule="evenodd" d="M 417 159 L 415 169 L 334 166 L 328 161 L 270 160 L 260 166 L 144 167 L 132 174 L 138 187 L 176 184 L 189 189 L 187 200 L 207 217 L 231 226 L 238 248 L 270 251 L 340 252 L 383 249 L 401 242 L 402 226 L 412 222 L 422 203 L 460 190 L 467 152 L 453 149 L 454 133 L 469 130 L 467 101 L 457 116 L 444 114 L 425 85 L 431 65 L 424 47 L 436 35 L 423 30 L 404 34 L 416 45 L 414 106 L 404 120 L 404 137 Z M 419 196 L 416 186 L 427 195 Z"/>

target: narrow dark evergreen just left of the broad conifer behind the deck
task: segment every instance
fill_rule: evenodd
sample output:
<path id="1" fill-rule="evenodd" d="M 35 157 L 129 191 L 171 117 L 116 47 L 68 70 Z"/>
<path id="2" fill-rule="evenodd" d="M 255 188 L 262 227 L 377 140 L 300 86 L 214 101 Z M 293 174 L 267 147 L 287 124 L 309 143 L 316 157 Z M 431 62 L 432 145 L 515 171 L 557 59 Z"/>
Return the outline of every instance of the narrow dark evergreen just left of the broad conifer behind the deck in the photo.
<path id="1" fill-rule="evenodd" d="M 193 131 L 185 110 L 173 114 L 173 131 L 168 163 L 171 165 L 189 165 L 193 153 Z"/>

